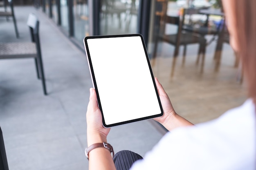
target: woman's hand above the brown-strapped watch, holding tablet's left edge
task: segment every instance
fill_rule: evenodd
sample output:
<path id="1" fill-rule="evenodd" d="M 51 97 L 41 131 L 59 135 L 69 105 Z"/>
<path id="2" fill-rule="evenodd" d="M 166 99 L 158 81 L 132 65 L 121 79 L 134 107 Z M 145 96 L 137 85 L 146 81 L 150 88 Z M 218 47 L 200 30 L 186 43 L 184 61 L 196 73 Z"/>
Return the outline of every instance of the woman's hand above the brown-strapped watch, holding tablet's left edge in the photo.
<path id="1" fill-rule="evenodd" d="M 102 115 L 99 110 L 97 96 L 94 88 L 90 88 L 90 101 L 86 113 L 88 146 L 94 143 L 107 142 L 110 128 L 102 126 Z"/>

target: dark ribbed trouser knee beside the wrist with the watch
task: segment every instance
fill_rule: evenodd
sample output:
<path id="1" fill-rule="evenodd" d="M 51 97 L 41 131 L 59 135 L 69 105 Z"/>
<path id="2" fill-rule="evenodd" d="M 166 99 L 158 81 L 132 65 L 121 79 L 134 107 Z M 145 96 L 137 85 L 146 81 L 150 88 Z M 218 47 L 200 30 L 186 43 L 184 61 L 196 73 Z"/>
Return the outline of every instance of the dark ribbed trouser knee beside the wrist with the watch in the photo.
<path id="1" fill-rule="evenodd" d="M 129 170 L 132 164 L 139 159 L 143 158 L 129 150 L 121 150 L 113 158 L 117 170 Z"/>

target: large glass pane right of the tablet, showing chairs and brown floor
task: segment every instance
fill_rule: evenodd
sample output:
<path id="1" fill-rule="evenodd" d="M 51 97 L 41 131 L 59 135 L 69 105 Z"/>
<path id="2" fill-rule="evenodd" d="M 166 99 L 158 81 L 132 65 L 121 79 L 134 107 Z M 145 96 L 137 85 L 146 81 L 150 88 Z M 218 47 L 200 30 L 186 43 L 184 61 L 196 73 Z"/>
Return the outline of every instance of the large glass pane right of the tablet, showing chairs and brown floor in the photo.
<path id="1" fill-rule="evenodd" d="M 229 44 L 221 1 L 153 2 L 150 62 L 175 111 L 196 124 L 242 104 L 241 63 Z"/>

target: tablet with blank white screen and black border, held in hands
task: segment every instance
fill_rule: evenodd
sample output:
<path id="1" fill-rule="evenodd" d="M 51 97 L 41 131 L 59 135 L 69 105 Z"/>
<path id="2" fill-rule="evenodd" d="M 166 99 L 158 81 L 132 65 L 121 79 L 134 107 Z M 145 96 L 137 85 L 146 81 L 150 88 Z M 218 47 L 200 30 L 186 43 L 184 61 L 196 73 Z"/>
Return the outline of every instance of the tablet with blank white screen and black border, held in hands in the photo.
<path id="1" fill-rule="evenodd" d="M 142 35 L 89 36 L 84 45 L 104 127 L 163 115 Z"/>

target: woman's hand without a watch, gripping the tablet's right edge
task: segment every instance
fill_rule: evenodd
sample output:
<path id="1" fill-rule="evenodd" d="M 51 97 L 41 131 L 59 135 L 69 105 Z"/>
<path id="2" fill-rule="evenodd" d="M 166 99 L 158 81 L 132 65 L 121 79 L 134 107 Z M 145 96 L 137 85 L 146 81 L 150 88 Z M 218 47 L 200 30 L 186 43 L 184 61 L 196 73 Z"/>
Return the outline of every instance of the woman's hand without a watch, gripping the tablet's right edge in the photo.
<path id="1" fill-rule="evenodd" d="M 171 104 L 171 100 L 169 99 L 168 95 L 164 91 L 163 86 L 159 83 L 156 77 L 155 83 L 157 85 L 157 90 L 164 110 L 164 115 L 162 117 L 156 117 L 154 120 L 158 121 L 169 131 L 177 127 L 193 125 L 175 112 Z"/>

